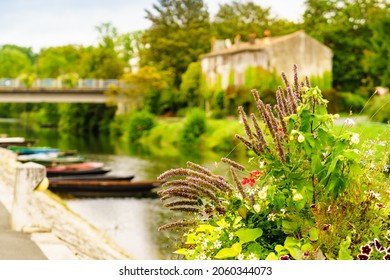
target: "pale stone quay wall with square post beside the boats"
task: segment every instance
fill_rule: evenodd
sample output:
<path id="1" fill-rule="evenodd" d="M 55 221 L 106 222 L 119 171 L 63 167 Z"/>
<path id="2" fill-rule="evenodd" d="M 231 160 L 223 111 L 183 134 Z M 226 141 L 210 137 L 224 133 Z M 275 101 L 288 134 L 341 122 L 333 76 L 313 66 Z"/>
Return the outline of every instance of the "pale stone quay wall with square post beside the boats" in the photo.
<path id="1" fill-rule="evenodd" d="M 69 209 L 47 190 L 47 184 L 44 166 L 31 162 L 22 164 L 13 152 L 0 148 L 0 201 L 11 213 L 14 230 L 31 233 L 33 240 L 54 240 L 56 246 L 61 244 L 69 250 L 70 259 L 133 258 Z"/>

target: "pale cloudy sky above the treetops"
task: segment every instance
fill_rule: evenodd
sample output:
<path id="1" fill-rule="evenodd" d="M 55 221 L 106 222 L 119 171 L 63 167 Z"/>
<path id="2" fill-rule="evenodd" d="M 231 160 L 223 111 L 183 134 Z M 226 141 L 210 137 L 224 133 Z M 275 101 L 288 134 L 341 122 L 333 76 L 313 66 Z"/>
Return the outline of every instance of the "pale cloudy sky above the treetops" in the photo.
<path id="1" fill-rule="evenodd" d="M 212 16 L 230 0 L 204 0 Z M 239 0 L 240 1 L 240 0 Z M 304 0 L 252 0 L 271 13 L 299 20 Z M 35 52 L 67 44 L 95 45 L 96 26 L 110 22 L 119 33 L 143 30 L 151 23 L 145 9 L 158 0 L 0 0 L 0 45 L 32 47 Z"/>

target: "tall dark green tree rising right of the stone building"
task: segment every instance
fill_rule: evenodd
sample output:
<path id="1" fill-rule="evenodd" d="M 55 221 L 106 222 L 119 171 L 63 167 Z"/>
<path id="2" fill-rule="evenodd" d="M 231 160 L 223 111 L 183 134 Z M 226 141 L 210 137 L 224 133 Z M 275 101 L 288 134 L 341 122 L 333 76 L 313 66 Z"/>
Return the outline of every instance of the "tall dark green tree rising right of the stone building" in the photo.
<path id="1" fill-rule="evenodd" d="M 370 49 L 369 14 L 380 8 L 381 0 L 306 0 L 305 30 L 334 53 L 333 86 L 354 91 L 367 83 L 364 52 Z"/>

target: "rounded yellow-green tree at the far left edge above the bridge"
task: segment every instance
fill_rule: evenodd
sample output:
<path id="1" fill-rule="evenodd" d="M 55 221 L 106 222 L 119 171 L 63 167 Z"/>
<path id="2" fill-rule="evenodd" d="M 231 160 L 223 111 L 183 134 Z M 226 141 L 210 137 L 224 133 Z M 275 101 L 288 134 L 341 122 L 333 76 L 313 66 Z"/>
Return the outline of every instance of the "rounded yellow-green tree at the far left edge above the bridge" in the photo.
<path id="1" fill-rule="evenodd" d="M 18 47 L 6 45 L 0 48 L 0 77 L 17 78 L 31 70 L 31 60 Z"/>

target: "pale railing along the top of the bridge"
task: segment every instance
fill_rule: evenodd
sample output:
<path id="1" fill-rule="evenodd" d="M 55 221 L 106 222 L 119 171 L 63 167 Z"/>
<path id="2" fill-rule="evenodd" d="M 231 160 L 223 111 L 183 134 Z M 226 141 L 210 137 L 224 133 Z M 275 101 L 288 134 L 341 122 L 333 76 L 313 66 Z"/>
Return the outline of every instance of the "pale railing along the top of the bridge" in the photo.
<path id="1" fill-rule="evenodd" d="M 120 80 L 116 79 L 78 79 L 74 86 L 70 86 L 65 80 L 57 78 L 35 79 L 29 88 L 75 88 L 75 89 L 108 89 L 111 85 L 124 87 Z M 0 88 L 27 88 L 19 79 L 0 78 Z"/>

